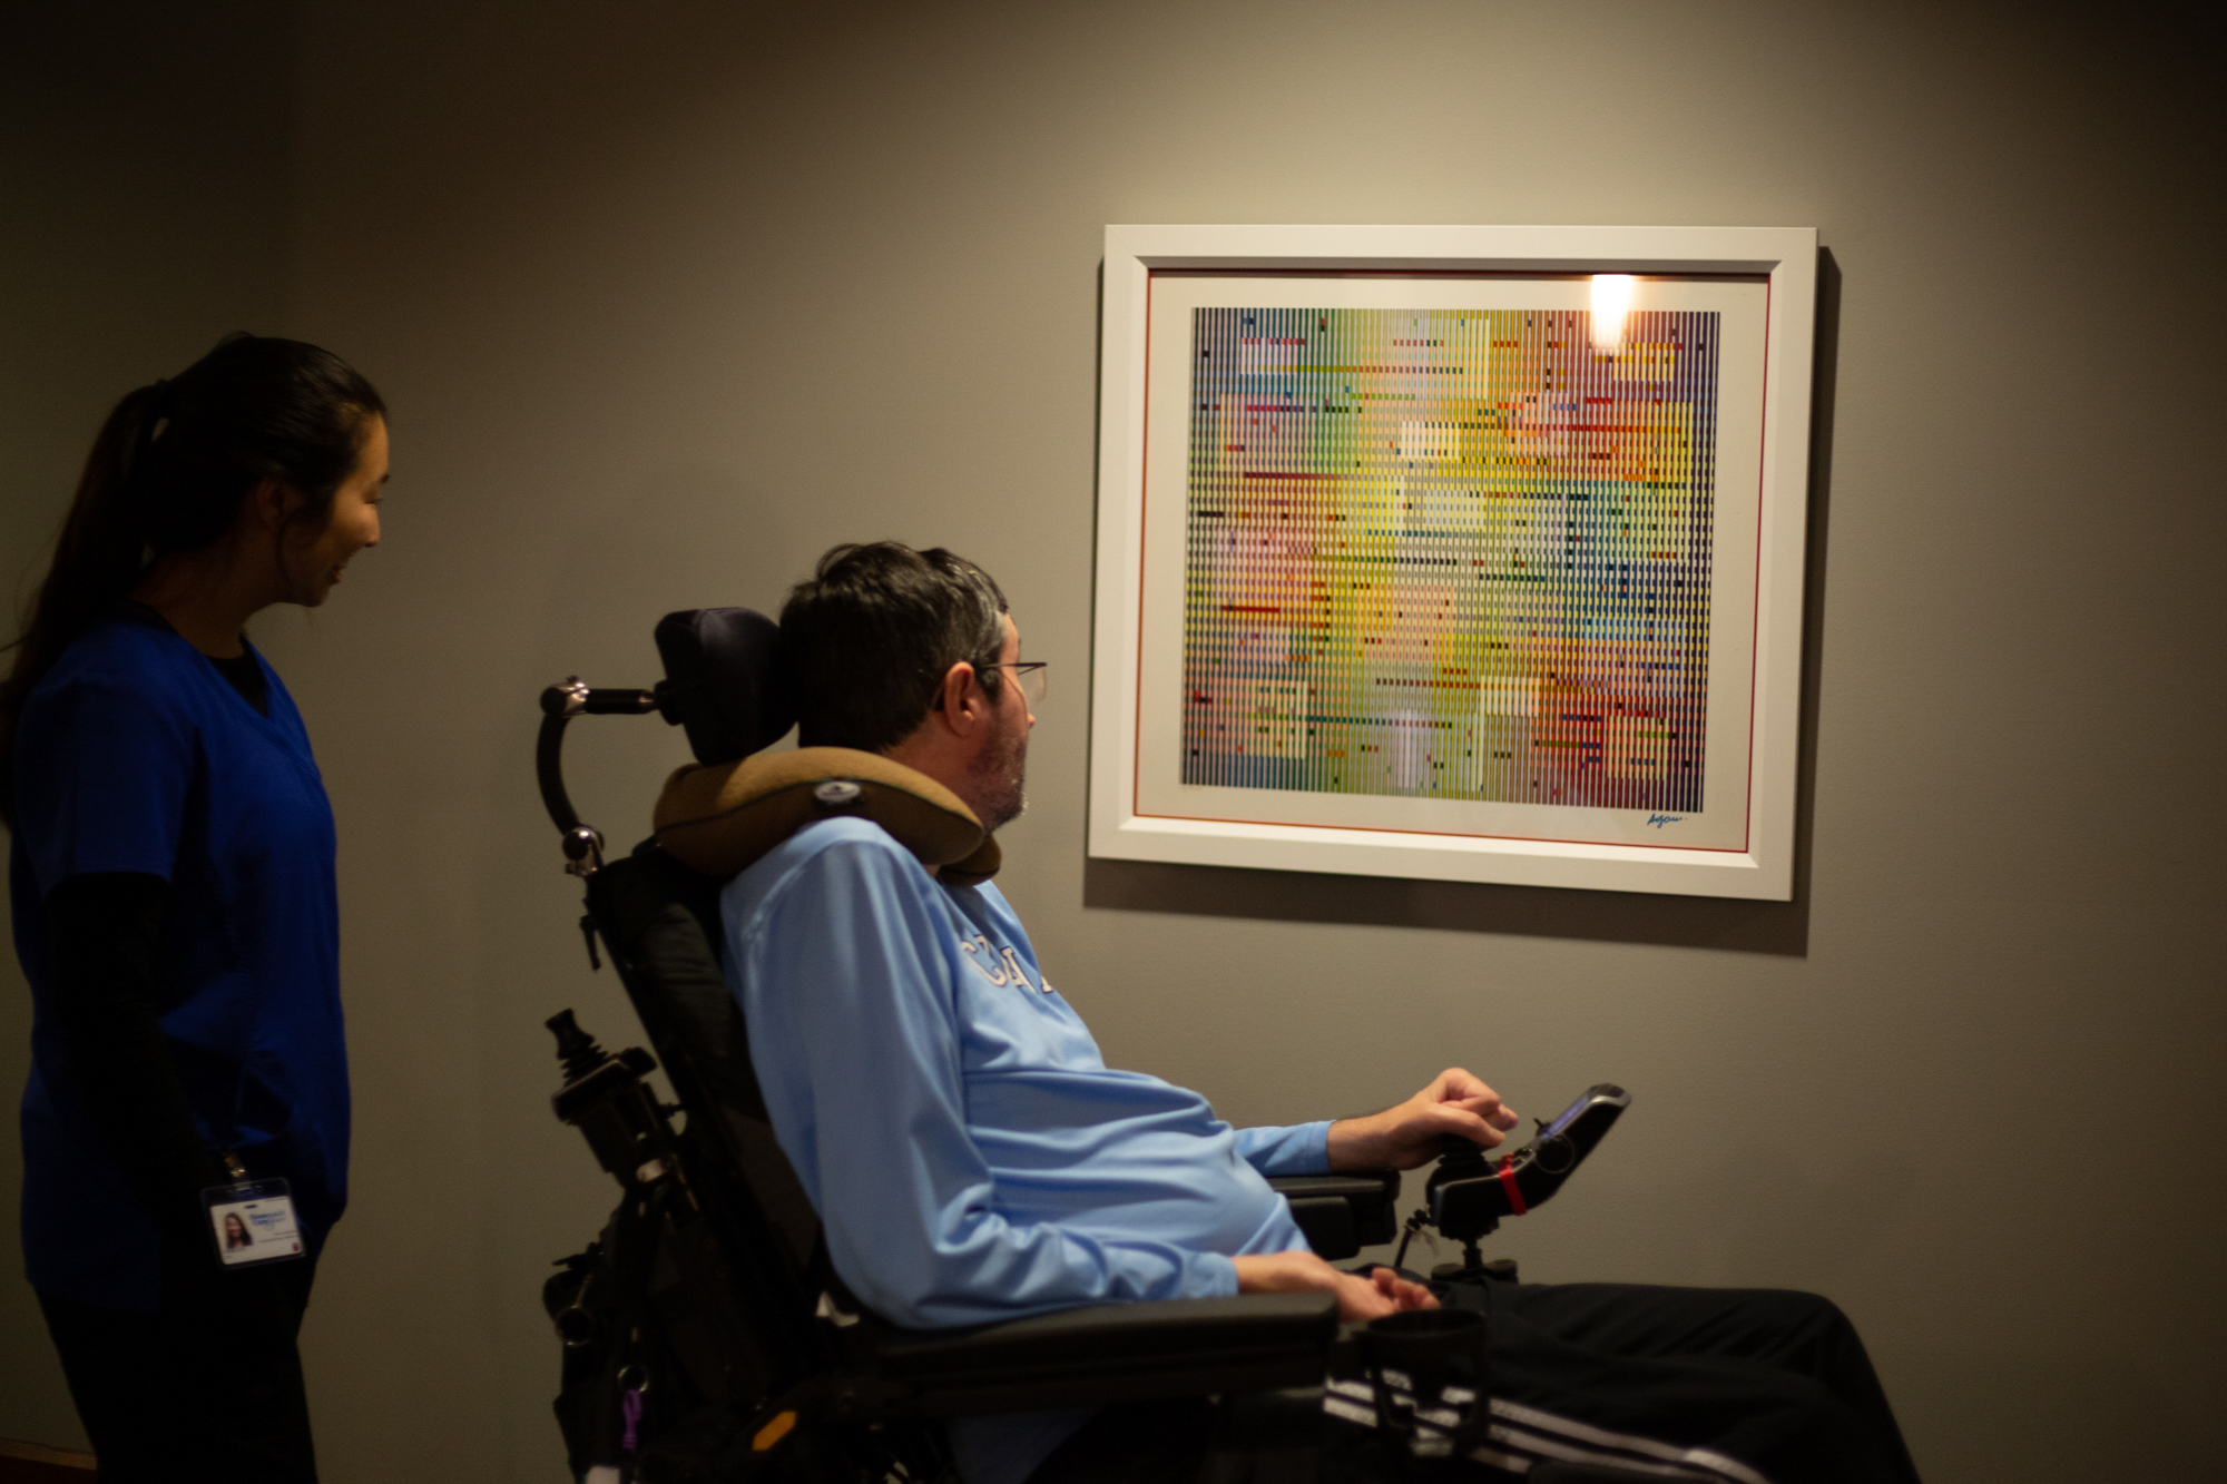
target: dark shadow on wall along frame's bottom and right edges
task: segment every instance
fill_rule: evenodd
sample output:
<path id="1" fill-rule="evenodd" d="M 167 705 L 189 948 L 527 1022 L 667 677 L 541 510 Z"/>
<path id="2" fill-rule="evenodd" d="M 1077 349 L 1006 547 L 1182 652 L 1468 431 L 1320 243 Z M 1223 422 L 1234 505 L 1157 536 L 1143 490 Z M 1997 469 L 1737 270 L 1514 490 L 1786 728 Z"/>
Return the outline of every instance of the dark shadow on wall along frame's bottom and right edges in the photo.
<path id="1" fill-rule="evenodd" d="M 1102 270 L 1100 270 L 1102 272 Z M 1321 871 L 1256 871 L 1156 860 L 1085 860 L 1082 905 L 1263 922 L 1434 927 L 1597 943 L 1657 943 L 1739 954 L 1808 954 L 1811 844 L 1817 800 L 1817 702 L 1824 660 L 1826 535 L 1833 506 L 1833 394 L 1840 368 L 1840 263 L 1817 252 L 1817 363 L 1811 392 L 1808 550 L 1802 584 L 1802 746 L 1795 771 L 1795 896 L 1746 902 L 1648 891 L 1570 891 Z"/>

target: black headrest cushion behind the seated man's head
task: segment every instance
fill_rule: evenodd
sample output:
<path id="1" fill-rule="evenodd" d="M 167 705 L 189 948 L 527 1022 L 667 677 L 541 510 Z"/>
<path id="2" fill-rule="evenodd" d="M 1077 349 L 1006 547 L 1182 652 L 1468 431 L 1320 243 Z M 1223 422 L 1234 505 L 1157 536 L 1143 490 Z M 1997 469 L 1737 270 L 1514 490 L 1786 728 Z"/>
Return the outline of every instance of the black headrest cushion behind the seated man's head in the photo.
<path id="1" fill-rule="evenodd" d="M 753 608 L 690 608 L 657 619 L 666 662 L 664 713 L 688 733 L 697 762 L 773 746 L 797 724 L 782 628 Z"/>

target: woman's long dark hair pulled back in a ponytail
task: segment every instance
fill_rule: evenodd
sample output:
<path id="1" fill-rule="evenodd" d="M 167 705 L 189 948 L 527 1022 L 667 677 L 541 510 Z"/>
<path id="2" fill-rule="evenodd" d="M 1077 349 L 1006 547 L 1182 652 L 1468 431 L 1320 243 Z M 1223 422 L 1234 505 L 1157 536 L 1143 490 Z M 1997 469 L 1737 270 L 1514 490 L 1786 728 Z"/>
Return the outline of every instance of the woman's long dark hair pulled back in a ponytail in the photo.
<path id="1" fill-rule="evenodd" d="M 372 414 L 385 403 L 336 354 L 254 334 L 229 334 L 176 379 L 116 403 L 0 680 L 0 822 L 16 818 L 16 717 L 62 651 L 125 602 L 156 557 L 220 539 L 263 479 L 298 490 L 303 517 L 330 517 Z"/>

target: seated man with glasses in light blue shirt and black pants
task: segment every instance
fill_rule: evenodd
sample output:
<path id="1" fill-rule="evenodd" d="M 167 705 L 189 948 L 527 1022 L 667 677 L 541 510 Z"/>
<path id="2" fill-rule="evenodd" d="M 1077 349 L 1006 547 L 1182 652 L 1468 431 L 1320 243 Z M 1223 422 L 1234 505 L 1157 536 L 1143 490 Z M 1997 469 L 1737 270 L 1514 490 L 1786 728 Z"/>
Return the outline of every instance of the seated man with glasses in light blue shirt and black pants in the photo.
<path id="1" fill-rule="evenodd" d="M 880 753 L 995 831 L 1022 811 L 1031 702 L 998 586 L 897 544 L 840 546 L 782 613 L 802 746 Z M 1410 1281 L 1307 1248 L 1265 1177 L 1416 1168 L 1517 1114 L 1465 1070 L 1365 1119 L 1232 1130 L 1207 1101 L 1109 1070 L 1004 896 L 880 824 L 824 818 L 719 898 L 724 972 L 779 1150 L 848 1290 L 909 1328 L 1078 1306 L 1318 1290 L 1347 1324 L 1490 1315 L 1492 1444 L 1414 1462 L 1330 1406 L 1334 1480 L 1601 1462 L 1657 1477 L 1915 1480 L 1864 1346 L 1828 1301 L 1768 1290 Z M 1149 965 L 1138 965 L 1149 972 Z M 1452 1393 L 1450 1393 L 1452 1395 Z M 1183 1480 L 1200 1402 L 949 1424 L 969 1484 Z M 1432 1475 L 1436 1477 L 1436 1475 Z M 1465 1473 L 1461 1477 L 1468 1477 Z"/>

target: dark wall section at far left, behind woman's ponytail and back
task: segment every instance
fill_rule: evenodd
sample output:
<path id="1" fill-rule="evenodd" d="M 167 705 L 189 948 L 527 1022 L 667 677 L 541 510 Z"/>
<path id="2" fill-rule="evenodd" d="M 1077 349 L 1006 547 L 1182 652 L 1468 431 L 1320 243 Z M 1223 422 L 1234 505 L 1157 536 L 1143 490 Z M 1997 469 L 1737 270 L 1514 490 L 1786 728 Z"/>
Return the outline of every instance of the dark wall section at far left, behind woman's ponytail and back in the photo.
<path id="1" fill-rule="evenodd" d="M 285 312 L 287 11 L 11 4 L 0 42 L 0 613 L 29 602 L 100 419 Z M 0 624 L 13 640 L 13 624 Z M 0 902 L 0 914 L 7 905 Z M 22 1283 L 31 1000 L 0 960 L 0 1437 L 82 1446 Z"/>

